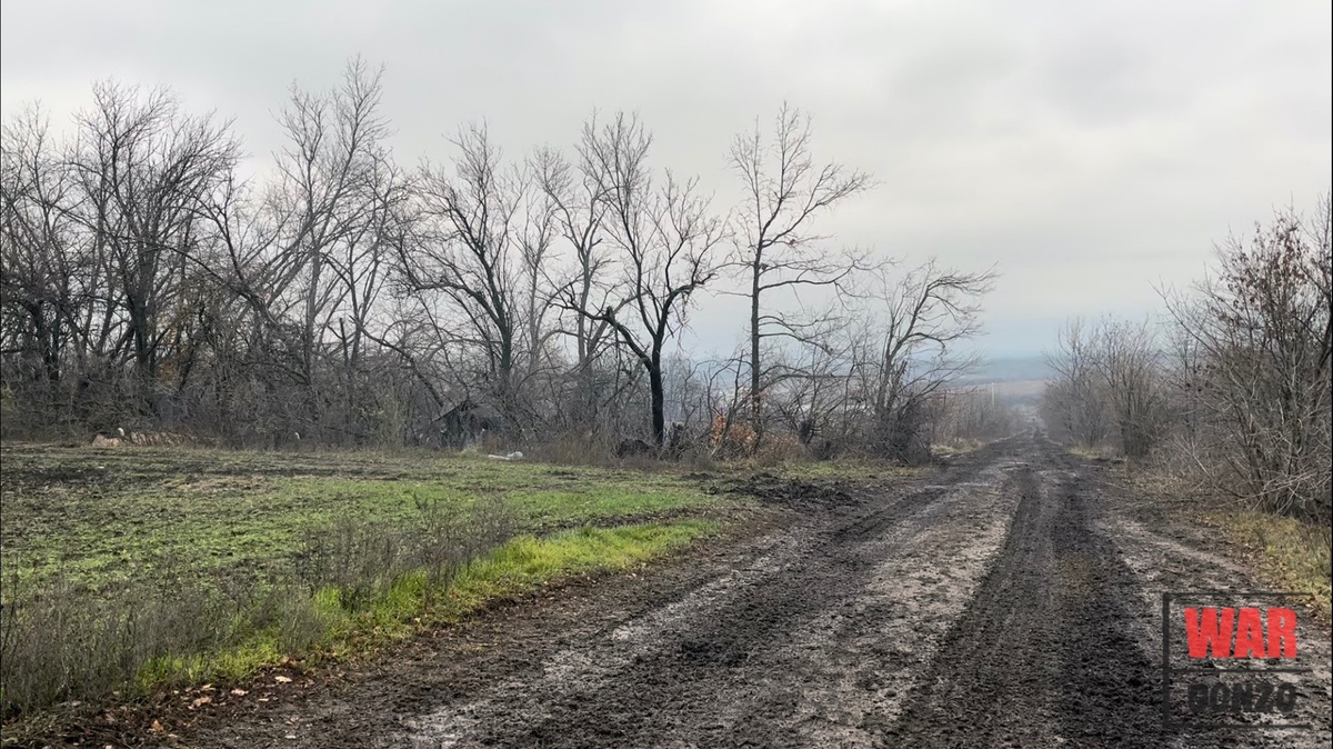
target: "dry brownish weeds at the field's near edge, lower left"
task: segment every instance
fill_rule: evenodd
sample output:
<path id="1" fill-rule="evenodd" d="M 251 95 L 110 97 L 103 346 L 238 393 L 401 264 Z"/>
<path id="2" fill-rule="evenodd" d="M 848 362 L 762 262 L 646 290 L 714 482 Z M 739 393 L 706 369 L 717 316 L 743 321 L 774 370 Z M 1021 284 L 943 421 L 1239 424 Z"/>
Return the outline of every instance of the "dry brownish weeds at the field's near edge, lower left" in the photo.
<path id="1" fill-rule="evenodd" d="M 339 626 L 383 618 L 411 576 L 421 576 L 424 592 L 445 590 L 472 560 L 504 545 L 513 526 L 513 512 L 499 501 L 465 510 L 424 502 L 407 521 L 344 517 L 312 528 L 301 550 L 264 577 L 176 566 L 95 593 L 67 574 L 7 569 L 0 709 L 11 718 L 113 690 L 240 678 L 305 654 Z"/>

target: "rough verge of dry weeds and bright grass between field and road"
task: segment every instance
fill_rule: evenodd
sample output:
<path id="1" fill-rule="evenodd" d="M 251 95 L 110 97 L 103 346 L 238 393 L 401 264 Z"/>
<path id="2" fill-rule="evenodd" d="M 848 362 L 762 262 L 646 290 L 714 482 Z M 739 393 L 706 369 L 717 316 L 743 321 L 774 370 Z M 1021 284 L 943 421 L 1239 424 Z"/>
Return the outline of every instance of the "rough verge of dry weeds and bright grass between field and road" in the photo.
<path id="1" fill-rule="evenodd" d="M 7 610 L 0 700 L 13 718 L 60 701 L 96 701 L 112 692 L 144 696 L 237 681 L 291 660 L 319 664 L 359 656 L 543 585 L 643 565 L 718 528 L 714 521 L 682 520 L 524 534 L 452 568 L 369 565 L 369 582 L 353 576 L 343 585 L 303 588 L 293 577 L 229 596 L 187 586 L 169 597 L 159 590 L 152 600 L 133 600 L 144 593 L 137 590 L 88 605 L 43 589 L 44 597 Z M 401 542 L 385 538 L 348 548 Z"/>

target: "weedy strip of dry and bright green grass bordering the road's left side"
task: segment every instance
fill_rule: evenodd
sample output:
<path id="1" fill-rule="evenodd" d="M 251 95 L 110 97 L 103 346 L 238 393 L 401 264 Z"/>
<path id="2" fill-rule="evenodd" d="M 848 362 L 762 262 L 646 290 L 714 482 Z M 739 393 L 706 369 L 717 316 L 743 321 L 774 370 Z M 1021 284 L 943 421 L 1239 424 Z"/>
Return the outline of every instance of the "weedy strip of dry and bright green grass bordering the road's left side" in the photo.
<path id="1" fill-rule="evenodd" d="M 7 721 L 59 702 L 228 682 L 283 662 L 372 652 L 567 576 L 627 569 L 716 532 L 705 520 L 512 537 L 512 512 L 424 508 L 409 528 L 311 533 L 269 580 L 181 577 L 89 598 L 48 581 L 11 590 L 0 625 Z"/>

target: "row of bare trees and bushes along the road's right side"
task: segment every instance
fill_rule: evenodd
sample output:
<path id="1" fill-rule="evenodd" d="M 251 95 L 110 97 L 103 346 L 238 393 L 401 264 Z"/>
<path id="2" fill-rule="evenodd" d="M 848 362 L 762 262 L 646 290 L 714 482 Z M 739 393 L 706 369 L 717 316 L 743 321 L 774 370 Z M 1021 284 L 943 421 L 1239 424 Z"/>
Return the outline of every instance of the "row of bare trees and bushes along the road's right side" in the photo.
<path id="1" fill-rule="evenodd" d="M 1162 325 L 1070 323 L 1044 417 L 1084 445 L 1172 461 L 1216 493 L 1329 518 L 1333 466 L 1330 203 L 1278 211 L 1164 293 Z"/>

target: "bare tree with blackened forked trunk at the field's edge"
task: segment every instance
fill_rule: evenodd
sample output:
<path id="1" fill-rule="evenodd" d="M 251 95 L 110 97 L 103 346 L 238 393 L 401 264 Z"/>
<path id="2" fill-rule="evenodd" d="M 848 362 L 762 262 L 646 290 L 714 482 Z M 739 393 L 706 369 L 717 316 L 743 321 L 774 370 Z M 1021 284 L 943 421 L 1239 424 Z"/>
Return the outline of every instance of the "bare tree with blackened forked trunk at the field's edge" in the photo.
<path id="1" fill-rule="evenodd" d="M 653 438 L 666 438 L 663 351 L 685 324 L 694 292 L 717 277 L 724 224 L 709 213 L 696 179 L 668 171 L 655 183 L 652 137 L 620 113 L 585 139 L 587 159 L 607 203 L 607 239 L 621 269 L 619 303 L 581 311 L 611 325 L 648 377 Z"/>

